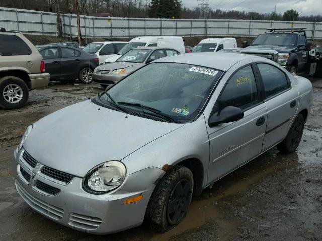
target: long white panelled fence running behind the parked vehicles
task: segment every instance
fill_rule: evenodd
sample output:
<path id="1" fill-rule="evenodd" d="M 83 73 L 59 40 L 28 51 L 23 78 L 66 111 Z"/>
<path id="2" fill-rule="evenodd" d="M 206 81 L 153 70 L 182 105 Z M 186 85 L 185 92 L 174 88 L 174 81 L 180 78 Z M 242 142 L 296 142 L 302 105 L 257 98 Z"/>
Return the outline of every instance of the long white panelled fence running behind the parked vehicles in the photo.
<path id="1" fill-rule="evenodd" d="M 61 14 L 65 37 L 77 36 L 74 14 Z M 82 36 L 87 38 L 115 38 L 148 35 L 179 36 L 250 36 L 267 28 L 290 28 L 292 22 L 267 20 L 221 19 L 145 19 L 81 16 Z M 56 14 L 24 9 L 0 7 L 0 27 L 25 34 L 57 35 Z M 322 39 L 321 22 L 294 22 L 294 28 L 306 28 L 310 39 Z"/>

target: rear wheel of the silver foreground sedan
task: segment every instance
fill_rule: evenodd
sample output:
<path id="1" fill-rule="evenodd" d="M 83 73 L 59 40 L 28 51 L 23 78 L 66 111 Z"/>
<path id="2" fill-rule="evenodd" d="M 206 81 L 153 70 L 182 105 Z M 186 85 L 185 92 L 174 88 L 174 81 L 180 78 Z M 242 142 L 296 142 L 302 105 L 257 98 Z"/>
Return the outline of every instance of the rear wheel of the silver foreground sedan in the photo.
<path id="1" fill-rule="evenodd" d="M 277 144 L 277 149 L 282 153 L 295 152 L 302 139 L 303 131 L 304 117 L 303 115 L 299 114 L 293 122 L 285 139 L 281 143 Z"/>

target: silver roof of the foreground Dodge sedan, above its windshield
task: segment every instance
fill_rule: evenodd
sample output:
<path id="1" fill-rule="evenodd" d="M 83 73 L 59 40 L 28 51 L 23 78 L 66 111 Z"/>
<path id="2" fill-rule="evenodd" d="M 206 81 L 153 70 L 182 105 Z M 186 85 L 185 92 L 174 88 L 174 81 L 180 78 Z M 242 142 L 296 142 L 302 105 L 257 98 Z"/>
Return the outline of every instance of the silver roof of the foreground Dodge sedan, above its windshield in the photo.
<path id="1" fill-rule="evenodd" d="M 236 54 L 236 53 L 220 53 L 220 52 L 199 52 L 199 53 L 186 53 L 176 54 L 172 56 L 163 57 L 154 60 L 157 62 L 170 62 L 170 63 L 182 63 L 200 65 L 204 67 L 214 68 L 222 71 L 227 71 L 230 67 L 245 59 L 261 57 L 248 55 L 248 54 Z"/>

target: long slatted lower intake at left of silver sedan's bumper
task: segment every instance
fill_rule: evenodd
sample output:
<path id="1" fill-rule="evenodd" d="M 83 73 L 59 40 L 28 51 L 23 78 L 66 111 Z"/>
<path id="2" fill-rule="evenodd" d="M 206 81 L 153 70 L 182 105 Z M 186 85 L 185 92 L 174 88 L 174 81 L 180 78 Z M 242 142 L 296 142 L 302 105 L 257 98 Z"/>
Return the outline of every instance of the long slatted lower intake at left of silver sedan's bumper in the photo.
<path id="1" fill-rule="evenodd" d="M 28 203 L 29 206 L 36 209 L 43 215 L 51 217 L 53 219 L 60 220 L 62 218 L 62 216 L 64 215 L 63 209 L 35 198 L 34 196 L 27 193 L 16 180 L 15 183 L 17 192 L 22 197 L 22 199 L 24 199 L 24 201 Z"/>

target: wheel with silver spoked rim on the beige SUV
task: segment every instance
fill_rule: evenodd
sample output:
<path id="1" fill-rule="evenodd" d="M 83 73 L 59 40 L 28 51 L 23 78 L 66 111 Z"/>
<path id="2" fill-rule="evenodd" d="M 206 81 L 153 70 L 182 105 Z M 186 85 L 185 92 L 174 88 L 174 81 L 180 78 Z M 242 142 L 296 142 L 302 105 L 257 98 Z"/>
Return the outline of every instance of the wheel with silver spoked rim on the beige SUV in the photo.
<path id="1" fill-rule="evenodd" d="M 19 109 L 26 105 L 29 98 L 27 84 L 15 76 L 0 78 L 0 107 Z"/>

